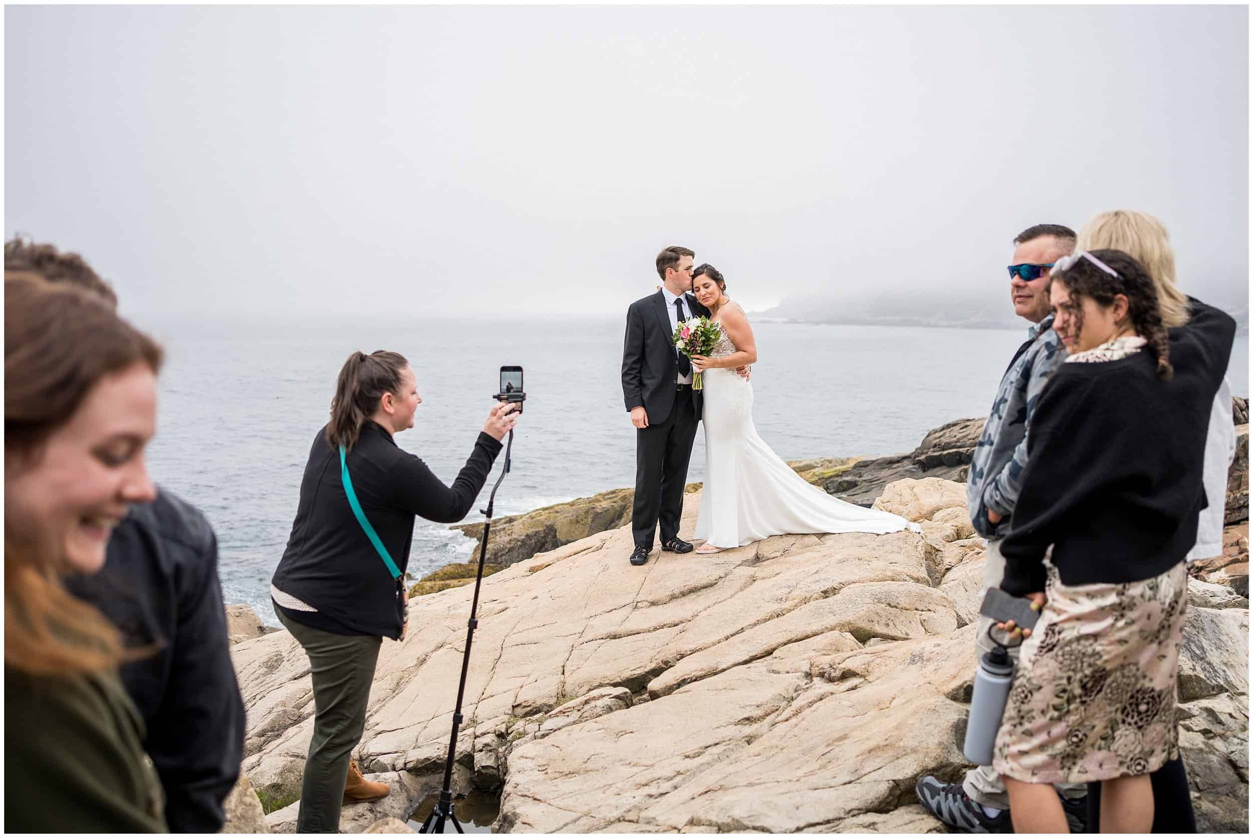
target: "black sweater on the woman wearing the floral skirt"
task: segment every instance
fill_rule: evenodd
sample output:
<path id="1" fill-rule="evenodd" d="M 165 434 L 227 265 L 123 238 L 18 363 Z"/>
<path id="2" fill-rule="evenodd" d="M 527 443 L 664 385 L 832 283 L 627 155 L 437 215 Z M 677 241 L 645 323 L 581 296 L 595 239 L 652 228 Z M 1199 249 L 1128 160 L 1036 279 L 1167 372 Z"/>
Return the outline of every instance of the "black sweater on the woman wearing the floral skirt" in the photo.
<path id="1" fill-rule="evenodd" d="M 1146 347 L 1053 375 L 1027 431 L 1015 529 L 1001 544 L 1002 590 L 1042 591 L 1050 544 L 1066 585 L 1139 581 L 1184 560 L 1207 505 L 1205 432 L 1235 336 L 1225 313 L 1192 307 L 1188 326 L 1170 329 L 1170 381 L 1157 377 Z"/>

